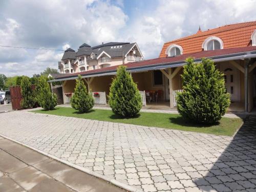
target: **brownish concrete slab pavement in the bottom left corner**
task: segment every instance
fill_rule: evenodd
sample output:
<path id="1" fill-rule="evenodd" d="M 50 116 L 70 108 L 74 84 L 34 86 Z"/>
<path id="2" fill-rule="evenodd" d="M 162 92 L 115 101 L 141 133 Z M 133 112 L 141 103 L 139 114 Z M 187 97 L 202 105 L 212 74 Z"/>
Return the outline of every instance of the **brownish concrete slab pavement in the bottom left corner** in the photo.
<path id="1" fill-rule="evenodd" d="M 0 191 L 124 191 L 0 137 Z"/>

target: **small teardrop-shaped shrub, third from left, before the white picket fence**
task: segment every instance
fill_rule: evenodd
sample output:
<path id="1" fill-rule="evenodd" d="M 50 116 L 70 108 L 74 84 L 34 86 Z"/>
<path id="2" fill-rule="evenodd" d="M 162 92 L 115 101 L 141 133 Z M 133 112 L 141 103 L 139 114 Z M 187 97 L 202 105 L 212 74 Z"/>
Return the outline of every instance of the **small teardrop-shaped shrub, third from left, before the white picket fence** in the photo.
<path id="1" fill-rule="evenodd" d="M 75 93 L 72 96 L 71 106 L 80 113 L 86 113 L 93 108 L 94 99 L 92 93 L 88 93 L 81 75 L 76 79 Z"/>

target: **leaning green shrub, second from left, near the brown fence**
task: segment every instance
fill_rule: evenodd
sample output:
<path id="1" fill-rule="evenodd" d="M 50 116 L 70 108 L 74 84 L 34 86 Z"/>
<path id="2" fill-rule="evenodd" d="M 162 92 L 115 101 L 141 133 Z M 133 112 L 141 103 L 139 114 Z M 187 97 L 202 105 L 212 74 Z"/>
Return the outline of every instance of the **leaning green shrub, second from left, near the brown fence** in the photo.
<path id="1" fill-rule="evenodd" d="M 45 110 L 54 110 L 57 105 L 57 95 L 52 94 L 49 83 L 47 82 L 48 78 L 41 76 L 37 77 L 35 95 L 36 101 Z"/>

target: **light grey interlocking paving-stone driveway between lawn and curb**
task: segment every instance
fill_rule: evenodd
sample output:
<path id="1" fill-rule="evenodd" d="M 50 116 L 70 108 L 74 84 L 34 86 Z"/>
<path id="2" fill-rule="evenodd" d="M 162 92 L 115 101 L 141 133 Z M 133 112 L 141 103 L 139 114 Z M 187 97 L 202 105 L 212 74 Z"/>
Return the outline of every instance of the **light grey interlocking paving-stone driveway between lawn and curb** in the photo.
<path id="1" fill-rule="evenodd" d="M 144 191 L 256 191 L 256 117 L 233 137 L 26 111 L 0 133 Z"/>

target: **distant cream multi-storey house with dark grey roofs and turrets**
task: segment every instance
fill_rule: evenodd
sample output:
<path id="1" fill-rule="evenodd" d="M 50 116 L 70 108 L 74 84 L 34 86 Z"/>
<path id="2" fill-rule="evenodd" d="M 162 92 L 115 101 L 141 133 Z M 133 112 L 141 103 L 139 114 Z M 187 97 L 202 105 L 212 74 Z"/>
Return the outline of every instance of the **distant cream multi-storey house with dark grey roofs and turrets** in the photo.
<path id="1" fill-rule="evenodd" d="M 58 68 L 60 73 L 78 73 L 140 60 L 143 56 L 136 42 L 108 42 L 95 47 L 82 44 L 77 52 L 67 49 Z"/>

